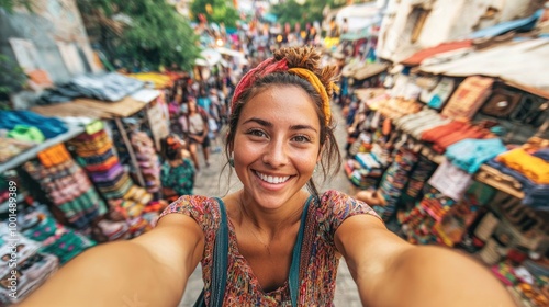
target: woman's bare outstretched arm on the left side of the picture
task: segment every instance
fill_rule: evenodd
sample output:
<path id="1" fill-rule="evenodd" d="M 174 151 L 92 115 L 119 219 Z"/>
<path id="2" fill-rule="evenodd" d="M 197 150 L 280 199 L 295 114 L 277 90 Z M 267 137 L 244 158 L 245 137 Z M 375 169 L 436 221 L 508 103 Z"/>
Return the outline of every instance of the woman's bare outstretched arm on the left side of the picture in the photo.
<path id="1" fill-rule="evenodd" d="M 202 251 L 197 223 L 167 215 L 133 240 L 87 250 L 20 306 L 177 306 Z"/>

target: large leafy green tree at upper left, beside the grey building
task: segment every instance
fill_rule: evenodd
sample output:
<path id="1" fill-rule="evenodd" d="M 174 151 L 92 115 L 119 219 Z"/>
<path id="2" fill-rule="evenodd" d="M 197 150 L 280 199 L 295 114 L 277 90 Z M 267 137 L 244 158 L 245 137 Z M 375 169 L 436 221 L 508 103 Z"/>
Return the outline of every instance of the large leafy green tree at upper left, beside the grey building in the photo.
<path id="1" fill-rule="evenodd" d="M 183 16 L 166 1 L 79 0 L 90 41 L 124 67 L 190 69 L 200 49 Z"/>

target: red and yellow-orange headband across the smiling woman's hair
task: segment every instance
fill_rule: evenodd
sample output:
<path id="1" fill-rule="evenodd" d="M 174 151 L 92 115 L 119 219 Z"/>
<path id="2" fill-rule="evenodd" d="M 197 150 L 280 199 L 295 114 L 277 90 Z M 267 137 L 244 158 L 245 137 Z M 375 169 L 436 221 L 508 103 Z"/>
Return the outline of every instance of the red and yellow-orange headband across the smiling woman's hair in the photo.
<path id="1" fill-rule="evenodd" d="M 246 75 L 244 75 L 244 77 L 240 79 L 240 82 L 238 82 L 238 84 L 235 88 L 233 101 L 231 102 L 231 111 L 233 112 L 235 110 L 236 102 L 240 98 L 242 93 L 249 87 L 251 87 L 251 84 L 254 84 L 255 81 L 269 73 L 279 71 L 288 71 L 292 75 L 295 75 L 302 79 L 307 80 L 313 86 L 316 92 L 321 95 L 323 113 L 324 116 L 326 117 L 326 125 L 328 125 L 332 118 L 332 111 L 329 107 L 329 96 L 326 91 L 326 88 L 324 88 L 324 84 L 321 82 L 318 77 L 314 75 L 313 71 L 306 68 L 288 69 L 288 61 L 285 58 L 279 61 L 277 61 L 274 58 L 268 58 L 264 60 L 261 64 L 259 64 L 256 68 L 249 70 Z M 334 84 L 330 86 L 335 87 Z"/>

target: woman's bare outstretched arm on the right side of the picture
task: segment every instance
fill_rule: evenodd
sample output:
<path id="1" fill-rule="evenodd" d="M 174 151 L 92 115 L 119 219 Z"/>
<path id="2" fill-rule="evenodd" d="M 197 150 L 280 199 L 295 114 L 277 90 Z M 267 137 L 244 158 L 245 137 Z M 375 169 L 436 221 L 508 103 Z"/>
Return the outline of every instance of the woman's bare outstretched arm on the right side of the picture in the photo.
<path id="1" fill-rule="evenodd" d="M 365 306 L 516 306 L 511 294 L 471 257 L 413 246 L 372 216 L 347 218 L 336 232 Z"/>

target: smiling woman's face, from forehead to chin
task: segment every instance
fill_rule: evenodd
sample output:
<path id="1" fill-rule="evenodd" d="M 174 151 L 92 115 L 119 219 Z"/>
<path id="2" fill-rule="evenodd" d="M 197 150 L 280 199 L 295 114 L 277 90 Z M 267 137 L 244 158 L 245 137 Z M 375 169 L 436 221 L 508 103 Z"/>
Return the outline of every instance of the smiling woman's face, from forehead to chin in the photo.
<path id="1" fill-rule="evenodd" d="M 246 193 L 269 208 L 291 201 L 320 160 L 320 129 L 303 89 L 272 86 L 254 95 L 242 110 L 233 146 Z"/>

